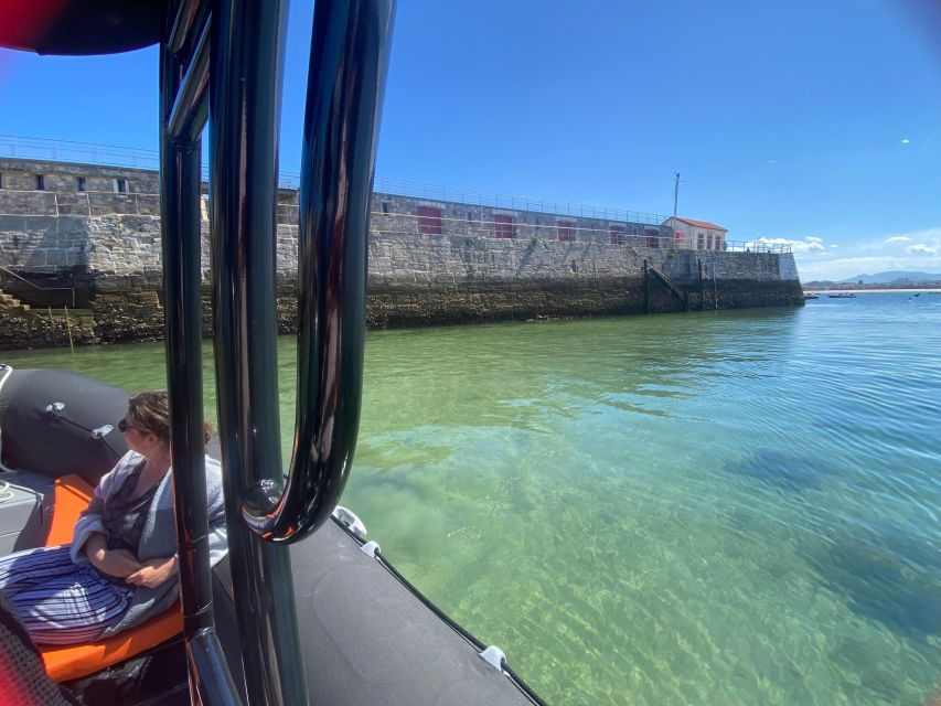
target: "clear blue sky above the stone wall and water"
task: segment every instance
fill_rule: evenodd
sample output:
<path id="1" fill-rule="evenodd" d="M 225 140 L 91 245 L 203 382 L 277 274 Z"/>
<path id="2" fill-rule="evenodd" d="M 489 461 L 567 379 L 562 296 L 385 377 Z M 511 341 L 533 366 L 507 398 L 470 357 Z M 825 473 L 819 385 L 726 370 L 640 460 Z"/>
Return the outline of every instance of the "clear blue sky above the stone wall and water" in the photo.
<path id="1" fill-rule="evenodd" d="M 941 271 L 941 26 L 928 0 L 399 0 L 377 175 L 795 244 L 803 279 Z M 293 2 L 281 169 L 312 8 Z M 157 52 L 0 50 L 0 133 L 157 147 Z M 2 148 L 0 148 L 2 149 Z"/>

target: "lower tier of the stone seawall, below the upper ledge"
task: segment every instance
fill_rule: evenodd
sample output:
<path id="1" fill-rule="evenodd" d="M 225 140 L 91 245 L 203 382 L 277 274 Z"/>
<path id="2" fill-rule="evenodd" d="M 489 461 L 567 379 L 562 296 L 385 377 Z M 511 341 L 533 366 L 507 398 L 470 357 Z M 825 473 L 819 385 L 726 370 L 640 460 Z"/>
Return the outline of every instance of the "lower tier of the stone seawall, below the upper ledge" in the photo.
<path id="1" fill-rule="evenodd" d="M 287 333 L 297 320 L 297 226 L 279 220 L 278 325 Z M 659 249 L 640 237 L 559 242 L 549 226 L 516 238 L 429 235 L 414 220 L 388 220 L 378 212 L 371 222 L 371 327 L 803 303 L 790 254 Z M 0 266 L 9 270 L 0 270 L 0 289 L 32 307 L 0 308 L 0 349 L 67 345 L 65 307 L 78 309 L 68 319 L 75 342 L 161 338 L 160 259 L 157 215 L 0 215 Z M 207 225 L 203 270 L 208 333 Z"/>

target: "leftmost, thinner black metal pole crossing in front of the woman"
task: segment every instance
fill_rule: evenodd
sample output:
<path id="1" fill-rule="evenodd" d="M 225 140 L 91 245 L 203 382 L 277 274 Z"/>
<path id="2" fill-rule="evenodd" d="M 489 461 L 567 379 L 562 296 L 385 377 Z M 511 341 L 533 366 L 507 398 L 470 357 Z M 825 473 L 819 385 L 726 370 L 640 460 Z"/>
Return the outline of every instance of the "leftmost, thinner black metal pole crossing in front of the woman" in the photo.
<path id="1" fill-rule="evenodd" d="M 237 704 L 239 698 L 215 634 L 212 606 L 200 271 L 201 142 L 174 142 L 168 129 L 180 86 L 179 62 L 160 50 L 160 191 L 167 388 L 174 513 L 180 547 L 180 592 L 186 651 L 197 646 L 200 668 L 190 668 L 193 703 Z"/>

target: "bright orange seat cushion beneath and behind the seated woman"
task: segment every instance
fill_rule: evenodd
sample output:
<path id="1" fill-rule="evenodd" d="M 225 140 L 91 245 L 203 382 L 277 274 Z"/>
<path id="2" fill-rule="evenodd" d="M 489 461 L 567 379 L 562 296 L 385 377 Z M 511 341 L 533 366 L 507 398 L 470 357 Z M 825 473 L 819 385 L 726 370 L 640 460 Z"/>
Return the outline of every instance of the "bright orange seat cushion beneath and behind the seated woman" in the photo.
<path id="1" fill-rule="evenodd" d="M 94 489 L 75 474 L 55 479 L 55 506 L 46 535 L 47 547 L 68 544 L 78 515 L 92 502 Z M 67 646 L 40 646 L 46 673 L 56 682 L 76 680 L 124 662 L 180 634 L 183 616 L 177 601 L 132 630 L 113 638 Z"/>

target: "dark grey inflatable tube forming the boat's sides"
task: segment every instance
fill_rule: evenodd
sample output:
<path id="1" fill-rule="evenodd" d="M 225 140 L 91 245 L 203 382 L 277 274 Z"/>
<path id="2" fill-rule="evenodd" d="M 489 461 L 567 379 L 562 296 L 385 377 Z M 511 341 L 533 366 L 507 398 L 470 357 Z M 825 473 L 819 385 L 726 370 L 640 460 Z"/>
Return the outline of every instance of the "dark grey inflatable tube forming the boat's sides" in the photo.
<path id="1" fill-rule="evenodd" d="M 0 367 L 3 466 L 54 477 L 79 472 L 94 484 L 125 451 L 117 422 L 128 397 L 126 391 L 71 373 Z M 114 428 L 105 430 L 107 425 Z M 343 516 L 344 522 L 334 516 L 290 548 L 312 704 L 543 703 L 506 666 L 499 649 L 481 644 L 445 616 L 392 567 L 375 542 L 351 530 L 355 516 Z M 244 684 L 227 560 L 215 567 L 213 586 L 220 640 L 236 683 Z M 109 697 L 125 704 L 154 697 L 189 703 L 182 640 L 177 637 L 68 685 L 85 703 Z"/>

